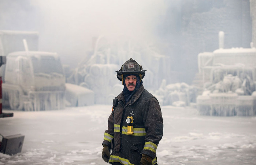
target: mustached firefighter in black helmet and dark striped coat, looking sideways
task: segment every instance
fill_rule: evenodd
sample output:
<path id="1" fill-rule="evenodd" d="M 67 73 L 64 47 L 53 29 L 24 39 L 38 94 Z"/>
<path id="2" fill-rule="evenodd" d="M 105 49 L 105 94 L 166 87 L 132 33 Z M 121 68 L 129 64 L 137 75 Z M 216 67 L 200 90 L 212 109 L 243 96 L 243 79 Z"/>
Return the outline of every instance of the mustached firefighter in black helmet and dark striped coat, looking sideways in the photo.
<path id="1" fill-rule="evenodd" d="M 157 165 L 163 118 L 159 102 L 142 85 L 145 71 L 131 58 L 116 71 L 124 88 L 113 100 L 102 143 L 102 158 L 112 165 Z"/>

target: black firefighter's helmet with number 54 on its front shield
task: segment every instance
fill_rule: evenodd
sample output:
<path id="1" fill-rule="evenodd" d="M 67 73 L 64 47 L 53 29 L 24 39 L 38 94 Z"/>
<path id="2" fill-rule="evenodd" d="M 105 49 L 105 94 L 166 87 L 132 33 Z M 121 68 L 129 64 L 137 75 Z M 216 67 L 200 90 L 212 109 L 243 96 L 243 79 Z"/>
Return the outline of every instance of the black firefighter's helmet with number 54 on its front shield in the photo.
<path id="1" fill-rule="evenodd" d="M 142 66 L 139 65 L 135 60 L 130 58 L 128 61 L 126 61 L 119 71 L 116 71 L 116 77 L 122 81 L 122 84 L 124 85 L 123 81 L 123 75 L 124 74 L 138 74 L 140 76 L 140 80 L 144 78 L 145 71 L 142 70 Z"/>

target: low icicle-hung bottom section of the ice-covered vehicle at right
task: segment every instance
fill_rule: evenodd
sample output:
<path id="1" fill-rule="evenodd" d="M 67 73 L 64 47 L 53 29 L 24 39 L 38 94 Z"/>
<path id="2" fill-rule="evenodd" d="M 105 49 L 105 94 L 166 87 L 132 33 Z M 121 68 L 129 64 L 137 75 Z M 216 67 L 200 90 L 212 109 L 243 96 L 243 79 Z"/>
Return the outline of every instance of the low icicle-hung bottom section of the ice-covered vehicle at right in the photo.
<path id="1" fill-rule="evenodd" d="M 207 94 L 208 93 L 208 94 Z M 209 93 L 197 97 L 197 109 L 201 115 L 252 116 L 256 115 L 256 93 L 238 96 L 237 93 Z"/>

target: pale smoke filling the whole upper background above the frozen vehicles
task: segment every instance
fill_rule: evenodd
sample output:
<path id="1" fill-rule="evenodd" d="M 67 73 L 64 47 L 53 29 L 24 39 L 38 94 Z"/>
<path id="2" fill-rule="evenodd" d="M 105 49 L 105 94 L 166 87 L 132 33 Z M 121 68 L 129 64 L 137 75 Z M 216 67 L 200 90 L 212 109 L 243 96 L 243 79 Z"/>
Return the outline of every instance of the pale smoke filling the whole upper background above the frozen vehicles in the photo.
<path id="1" fill-rule="evenodd" d="M 93 41 L 129 37 L 154 45 L 171 59 L 170 75 L 191 83 L 197 55 L 249 47 L 250 1 L 240 0 L 0 0 L 0 29 L 39 32 L 40 51 L 57 52 L 71 68 L 87 59 Z M 175 78 L 177 77 L 177 78 Z"/>

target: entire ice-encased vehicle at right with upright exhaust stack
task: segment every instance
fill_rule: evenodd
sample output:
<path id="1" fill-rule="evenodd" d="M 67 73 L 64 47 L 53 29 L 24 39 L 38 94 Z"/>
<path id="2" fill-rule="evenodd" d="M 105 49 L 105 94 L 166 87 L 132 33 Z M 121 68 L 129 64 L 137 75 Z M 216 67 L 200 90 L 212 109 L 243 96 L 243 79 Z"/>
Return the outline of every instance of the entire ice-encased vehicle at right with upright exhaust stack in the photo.
<path id="1" fill-rule="evenodd" d="M 219 49 L 198 55 L 204 86 L 197 97 L 201 115 L 256 115 L 256 48 L 224 48 L 224 32 L 219 32 Z"/>

